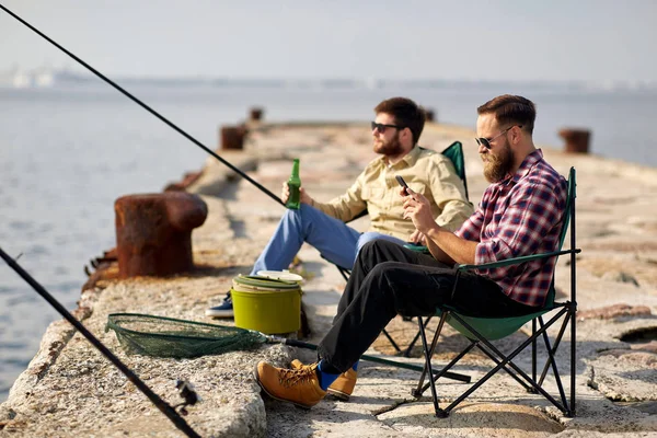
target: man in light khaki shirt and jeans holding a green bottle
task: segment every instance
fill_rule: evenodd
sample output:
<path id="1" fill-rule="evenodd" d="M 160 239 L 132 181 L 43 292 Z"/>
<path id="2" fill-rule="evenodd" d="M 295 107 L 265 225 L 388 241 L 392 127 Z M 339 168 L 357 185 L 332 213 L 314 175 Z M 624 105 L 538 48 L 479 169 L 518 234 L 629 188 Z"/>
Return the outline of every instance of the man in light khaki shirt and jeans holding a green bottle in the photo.
<path id="1" fill-rule="evenodd" d="M 286 211 L 251 275 L 286 269 L 303 242 L 347 269 L 354 265 L 360 247 L 372 240 L 424 244 L 424 235 L 403 218 L 403 198 L 397 194 L 395 175 L 428 199 L 433 218 L 445 229 L 458 229 L 472 215 L 473 206 L 451 161 L 417 145 L 425 124 L 424 111 L 410 99 L 392 97 L 377 105 L 374 113 L 372 146 L 381 157 L 365 168 L 344 195 L 328 203 L 313 199 L 301 187 L 301 208 Z M 283 201 L 288 197 L 289 188 L 284 183 Z M 370 218 L 368 232 L 360 233 L 346 224 L 365 210 Z M 206 315 L 232 318 L 230 296 L 220 306 L 208 309 Z"/>

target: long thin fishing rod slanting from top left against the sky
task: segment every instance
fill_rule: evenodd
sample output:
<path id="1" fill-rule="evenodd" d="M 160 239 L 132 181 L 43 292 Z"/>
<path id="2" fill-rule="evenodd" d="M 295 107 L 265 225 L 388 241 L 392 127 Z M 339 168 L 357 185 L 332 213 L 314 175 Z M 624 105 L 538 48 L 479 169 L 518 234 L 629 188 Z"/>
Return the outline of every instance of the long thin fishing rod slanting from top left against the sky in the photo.
<path id="1" fill-rule="evenodd" d="M 230 170 L 232 170 L 233 172 L 235 172 L 238 175 L 242 176 L 244 180 L 249 181 L 251 184 L 255 185 L 263 193 L 265 193 L 266 195 L 268 195 L 272 199 L 274 199 L 275 201 L 277 201 L 278 204 L 280 204 L 281 206 L 285 207 L 285 204 L 283 203 L 283 200 L 278 196 L 274 195 L 270 191 L 268 191 L 261 183 L 258 183 L 257 181 L 253 180 L 251 176 L 246 175 L 244 172 L 242 172 L 241 170 L 239 170 L 238 168 L 235 168 L 234 165 L 232 165 L 230 162 L 228 162 L 227 160 L 224 160 L 221 157 L 219 157 L 215 151 L 212 151 L 211 149 L 209 149 L 208 147 L 206 147 L 205 145 L 203 145 L 200 141 L 198 141 L 197 139 L 195 139 L 194 137 L 192 137 L 189 134 L 187 134 L 183 129 L 178 128 L 175 124 L 173 124 L 168 118 L 165 118 L 164 116 L 162 116 L 160 113 L 158 113 L 157 111 L 154 111 L 153 108 L 151 108 L 149 105 L 147 105 L 146 103 L 141 102 L 139 99 L 135 97 L 132 94 L 130 94 L 129 92 L 127 92 L 126 90 L 124 90 L 116 82 L 114 82 L 110 78 L 105 77 L 103 73 L 101 73 L 100 71 L 97 71 L 96 69 L 94 69 L 93 67 L 91 67 L 89 64 L 84 62 L 82 59 L 80 59 L 79 57 L 77 57 L 76 55 L 73 55 L 72 53 L 70 53 L 69 50 L 67 50 L 66 48 L 64 48 L 61 45 L 57 44 L 53 38 L 48 37 L 46 34 L 44 34 L 43 32 L 41 32 L 38 28 L 34 27 L 32 24 L 27 23 L 25 20 L 21 19 L 19 15 L 16 15 L 15 13 L 13 13 L 9 9 L 7 9 L 2 3 L 0 3 L 0 9 L 2 9 L 4 12 L 7 12 L 8 14 L 10 14 L 14 19 L 16 19 L 19 22 L 21 22 L 25 26 L 27 26 L 30 30 L 32 30 L 34 33 L 36 33 L 38 36 L 41 36 L 42 38 L 46 39 L 48 43 L 53 44 L 55 47 L 57 47 L 58 49 L 60 49 L 61 51 L 64 51 L 65 54 L 67 54 L 71 58 L 73 58 L 77 62 L 79 62 L 80 65 L 82 65 L 89 71 L 91 71 L 92 73 L 94 73 L 95 76 L 97 76 L 99 78 L 101 78 L 102 80 L 104 80 L 105 82 L 107 82 L 110 85 L 114 87 L 116 90 L 118 90 L 125 96 L 127 96 L 128 99 L 130 99 L 132 102 L 135 102 L 136 104 L 138 104 L 139 106 L 141 106 L 142 108 L 145 108 L 146 111 L 148 111 L 149 113 L 151 113 L 152 115 L 154 115 L 155 117 L 158 117 L 160 120 L 164 122 L 166 125 L 169 125 L 171 128 L 173 128 L 176 132 L 178 132 L 180 135 L 182 135 L 183 137 L 185 137 L 187 140 L 192 141 L 194 145 L 198 146 L 200 149 L 203 149 L 204 151 L 206 151 L 210 155 L 215 157 L 222 164 L 227 165 Z"/>

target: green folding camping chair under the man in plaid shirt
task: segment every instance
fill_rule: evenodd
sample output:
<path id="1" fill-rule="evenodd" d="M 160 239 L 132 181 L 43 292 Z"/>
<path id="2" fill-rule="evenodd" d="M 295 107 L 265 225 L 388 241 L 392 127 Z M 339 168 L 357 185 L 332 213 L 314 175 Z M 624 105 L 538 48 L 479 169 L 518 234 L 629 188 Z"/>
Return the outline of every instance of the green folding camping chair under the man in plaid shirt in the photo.
<path id="1" fill-rule="evenodd" d="M 570 168 L 570 172 L 568 175 L 568 196 L 566 203 L 566 210 L 564 212 L 560 246 L 558 251 L 545 253 L 545 254 L 534 254 L 522 257 L 509 258 L 503 262 L 487 263 L 484 265 L 460 265 L 457 268 L 457 281 L 459 278 L 459 274 L 471 270 L 475 268 L 495 268 L 500 266 L 508 266 L 514 264 L 520 264 L 525 262 L 530 262 L 537 258 L 545 258 L 545 257 L 557 257 L 560 255 L 569 254 L 570 255 L 570 299 L 565 302 L 555 302 L 555 289 L 554 289 L 554 275 L 552 277 L 552 285 L 550 287 L 550 291 L 548 295 L 548 300 L 543 309 L 541 311 L 523 315 L 523 316 L 512 316 L 512 318 L 473 318 L 464 314 L 458 313 L 453 308 L 449 306 L 442 306 L 437 309 L 436 314 L 440 316 L 440 322 L 438 323 L 438 328 L 434 335 L 430 347 L 427 346 L 427 338 L 425 334 L 426 323 L 431 316 L 428 316 L 423 321 L 423 318 L 417 318 L 417 323 L 419 326 L 419 336 L 422 337 L 422 344 L 424 348 L 424 357 L 425 357 L 425 370 L 419 379 L 417 388 L 412 392 L 415 397 L 422 396 L 422 394 L 426 391 L 428 387 L 431 388 L 431 396 L 434 399 L 434 408 L 436 411 L 437 417 L 447 417 L 452 408 L 454 408 L 459 403 L 461 403 L 465 397 L 468 397 L 473 391 L 480 388 L 484 382 L 486 382 L 493 374 L 495 374 L 500 369 L 504 369 L 508 372 L 516 381 L 518 381 L 526 390 L 533 393 L 541 393 L 548 401 L 554 404 L 558 410 L 561 410 L 566 416 L 573 417 L 575 416 L 575 323 L 576 323 L 576 312 L 577 312 L 577 301 L 575 300 L 576 292 L 576 284 L 575 284 L 575 254 L 581 252 L 581 250 L 575 247 L 575 169 Z M 568 228 L 568 222 L 570 222 L 570 249 L 562 251 L 561 247 L 563 245 L 566 230 Z M 452 290 L 456 290 L 456 285 Z M 548 312 L 556 311 L 556 314 L 553 315 L 546 323 L 543 321 L 543 315 Z M 550 338 L 548 336 L 546 330 L 563 319 L 561 328 L 558 334 L 554 338 L 554 343 L 551 344 Z M 508 356 L 504 355 L 496 348 L 491 341 L 500 339 L 506 337 L 517 330 L 519 330 L 522 325 L 532 322 L 532 335 L 525 341 L 520 346 L 518 346 L 512 353 Z M 445 323 L 448 323 L 458 332 L 463 334 L 469 341 L 470 345 L 463 349 L 452 361 L 450 361 L 447 366 L 445 366 L 440 371 L 434 371 L 431 367 L 431 356 L 434 350 L 436 349 L 436 343 L 438 337 L 440 336 L 440 331 Z M 556 349 L 562 341 L 562 337 L 566 331 L 567 324 L 570 323 L 570 396 L 569 401 L 566 400 L 566 394 L 564 391 L 564 387 L 562 384 L 562 379 L 560 377 L 558 368 L 555 360 Z M 538 330 L 537 330 L 538 328 Z M 537 380 L 537 339 L 542 337 L 545 344 L 545 350 L 548 353 L 548 359 L 543 366 L 543 370 L 541 372 L 540 379 Z M 512 359 L 521 353 L 526 347 L 531 345 L 531 359 L 532 359 L 532 370 L 530 378 L 522 369 L 520 369 L 516 364 L 512 362 Z M 460 395 L 457 400 L 454 400 L 447 407 L 441 408 L 438 404 L 438 395 L 436 393 L 436 380 L 439 379 L 445 372 L 451 369 L 465 354 L 468 354 L 471 349 L 477 347 L 481 349 L 486 356 L 488 356 L 495 364 L 495 368 L 493 368 L 488 373 L 482 377 L 479 381 L 472 384 L 470 389 L 468 389 L 462 395 Z M 548 374 L 549 369 L 552 369 L 557 389 L 558 389 L 558 399 L 557 401 L 554 396 L 548 393 L 543 389 L 543 383 L 545 381 L 545 377 Z M 425 376 L 428 372 L 429 382 L 424 384 Z M 424 385 L 423 385 L 424 384 Z"/>

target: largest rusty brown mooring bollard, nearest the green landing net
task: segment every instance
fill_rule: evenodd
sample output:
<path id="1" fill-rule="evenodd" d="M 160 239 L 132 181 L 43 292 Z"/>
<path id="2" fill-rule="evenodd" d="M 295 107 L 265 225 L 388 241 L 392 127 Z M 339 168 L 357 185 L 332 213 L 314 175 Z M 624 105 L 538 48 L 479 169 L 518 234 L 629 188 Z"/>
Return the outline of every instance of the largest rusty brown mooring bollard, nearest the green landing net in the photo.
<path id="1" fill-rule="evenodd" d="M 197 195 L 166 192 L 123 196 L 114 203 L 119 278 L 191 270 L 192 230 L 208 216 Z"/>

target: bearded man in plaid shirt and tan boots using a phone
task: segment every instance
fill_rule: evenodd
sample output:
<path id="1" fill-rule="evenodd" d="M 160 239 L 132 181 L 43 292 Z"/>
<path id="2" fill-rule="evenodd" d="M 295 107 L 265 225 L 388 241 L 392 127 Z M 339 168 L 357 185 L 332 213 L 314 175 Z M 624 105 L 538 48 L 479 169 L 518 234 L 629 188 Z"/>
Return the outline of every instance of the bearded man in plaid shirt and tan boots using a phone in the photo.
<path id="1" fill-rule="evenodd" d="M 387 241 L 366 244 L 319 345 L 320 361 L 292 369 L 260 362 L 255 378 L 275 399 L 311 407 L 326 392 L 354 391 L 358 359 L 396 314 L 433 315 L 449 304 L 472 316 L 533 313 L 545 301 L 554 257 L 460 275 L 454 264 L 484 264 L 558 247 L 567 184 L 532 140 L 534 104 L 502 95 L 477 108 L 476 143 L 491 185 L 479 208 L 456 232 L 436 223 L 428 200 L 408 189 L 404 217 L 427 239 L 431 256 Z"/>

